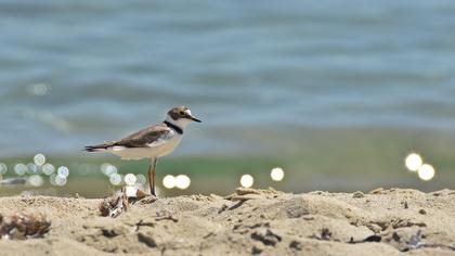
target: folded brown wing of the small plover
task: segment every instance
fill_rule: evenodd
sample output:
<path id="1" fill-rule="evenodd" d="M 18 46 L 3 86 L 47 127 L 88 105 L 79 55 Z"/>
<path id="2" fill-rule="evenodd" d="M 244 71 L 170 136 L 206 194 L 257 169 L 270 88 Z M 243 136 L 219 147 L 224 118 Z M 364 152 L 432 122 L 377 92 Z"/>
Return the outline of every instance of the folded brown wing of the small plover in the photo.
<path id="1" fill-rule="evenodd" d="M 145 128 L 143 130 L 136 131 L 130 136 L 125 137 L 118 141 L 105 142 L 99 145 L 89 145 L 86 146 L 86 150 L 93 152 L 100 149 L 107 149 L 109 146 L 126 146 L 126 148 L 144 148 L 150 143 L 159 142 L 159 139 L 170 136 L 172 130 L 165 124 L 159 124 Z"/>

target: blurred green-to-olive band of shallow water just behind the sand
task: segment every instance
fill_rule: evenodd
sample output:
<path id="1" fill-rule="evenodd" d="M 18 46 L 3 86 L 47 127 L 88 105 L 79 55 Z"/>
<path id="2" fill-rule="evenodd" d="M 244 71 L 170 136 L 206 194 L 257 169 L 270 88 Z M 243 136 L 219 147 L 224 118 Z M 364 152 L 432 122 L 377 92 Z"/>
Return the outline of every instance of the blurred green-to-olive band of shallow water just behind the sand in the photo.
<path id="1" fill-rule="evenodd" d="M 261 132 L 257 132 L 261 133 Z M 226 135 L 225 135 L 226 136 Z M 265 140 L 264 138 L 272 138 Z M 253 176 L 255 188 L 303 192 L 310 190 L 368 191 L 377 187 L 414 188 L 425 191 L 453 188 L 455 183 L 455 136 L 451 132 L 338 128 L 289 128 L 288 132 L 262 132 L 249 137 L 249 144 L 259 153 L 231 152 L 226 155 L 170 155 L 158 163 L 157 178 L 161 184 L 166 175 L 186 175 L 191 187 L 172 193 L 227 193 L 239 185 L 243 175 Z M 416 172 L 405 168 L 410 153 L 418 153 L 435 169 L 430 181 L 422 181 Z M 109 188 L 108 177 L 100 170 L 105 163 L 116 166 L 118 174 L 146 176 L 148 161 L 121 161 L 108 155 L 79 154 L 73 156 L 47 155 L 48 163 L 69 169 L 68 184 L 77 180 L 99 180 L 103 191 Z M 31 163 L 32 156 L 0 159 L 14 177 L 16 163 Z M 271 180 L 270 171 L 281 167 L 282 181 Z M 83 184 L 82 184 L 83 187 Z M 96 190 L 93 183 L 91 189 Z M 75 187 L 76 190 L 76 187 Z"/>

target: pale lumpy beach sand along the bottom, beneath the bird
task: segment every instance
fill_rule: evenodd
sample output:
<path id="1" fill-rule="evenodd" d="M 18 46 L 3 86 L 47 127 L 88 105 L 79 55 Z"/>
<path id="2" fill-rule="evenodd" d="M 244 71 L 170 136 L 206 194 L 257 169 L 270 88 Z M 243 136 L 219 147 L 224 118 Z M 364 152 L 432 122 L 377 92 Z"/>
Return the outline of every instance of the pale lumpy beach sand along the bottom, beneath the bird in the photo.
<path id="1" fill-rule="evenodd" d="M 455 255 L 455 191 L 144 199 L 117 218 L 103 200 L 2 197 L 0 213 L 42 214 L 43 238 L 0 240 L 1 255 Z"/>

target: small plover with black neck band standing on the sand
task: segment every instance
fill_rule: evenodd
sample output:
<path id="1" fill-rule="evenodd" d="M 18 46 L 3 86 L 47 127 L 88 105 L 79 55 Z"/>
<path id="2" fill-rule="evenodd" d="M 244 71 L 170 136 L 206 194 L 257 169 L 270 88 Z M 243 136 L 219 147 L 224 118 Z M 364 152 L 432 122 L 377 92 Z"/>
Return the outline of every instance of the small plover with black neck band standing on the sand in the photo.
<path id="1" fill-rule="evenodd" d="M 88 145 L 88 152 L 107 152 L 121 159 L 151 158 L 148 166 L 148 183 L 151 193 L 155 193 L 155 172 L 158 158 L 171 153 L 180 143 L 183 129 L 192 121 L 202 123 L 194 117 L 186 106 L 177 106 L 168 112 L 166 120 L 136 131 L 123 139 L 108 141 L 103 144 Z"/>

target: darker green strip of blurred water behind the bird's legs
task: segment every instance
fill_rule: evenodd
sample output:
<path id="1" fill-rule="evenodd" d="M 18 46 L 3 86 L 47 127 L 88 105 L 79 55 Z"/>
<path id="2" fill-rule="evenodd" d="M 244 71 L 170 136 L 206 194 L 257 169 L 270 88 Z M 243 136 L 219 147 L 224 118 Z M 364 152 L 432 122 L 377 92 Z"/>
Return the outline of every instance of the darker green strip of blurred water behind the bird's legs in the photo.
<path id="1" fill-rule="evenodd" d="M 3 178 L 27 178 L 39 175 L 42 177 L 42 184 L 34 187 L 30 184 L 2 187 L 0 195 L 43 194 L 58 196 L 75 196 L 76 193 L 84 197 L 103 197 L 112 194 L 115 190 L 125 185 L 121 182 L 114 185 L 109 177 L 101 171 L 103 165 L 115 166 L 121 176 L 127 174 L 147 175 L 148 161 L 121 161 L 115 157 L 77 157 L 48 156 L 48 163 L 55 168 L 66 166 L 69 169 L 67 182 L 60 187 L 52 184 L 52 175 L 44 175 L 42 171 L 26 172 L 18 176 L 14 166 L 18 163 L 30 164 L 32 157 L 20 157 L 3 159 L 9 166 L 9 171 Z M 164 157 L 157 167 L 157 184 L 161 194 L 167 196 L 191 194 L 191 193 L 218 193 L 227 194 L 239 187 L 243 175 L 255 177 L 256 187 L 269 187 L 270 170 L 276 166 L 285 166 L 284 161 L 260 156 L 174 156 Z M 191 178 L 191 187 L 187 190 L 164 188 L 161 181 L 166 175 L 186 175 Z M 145 189 L 148 187 L 145 185 Z"/>

